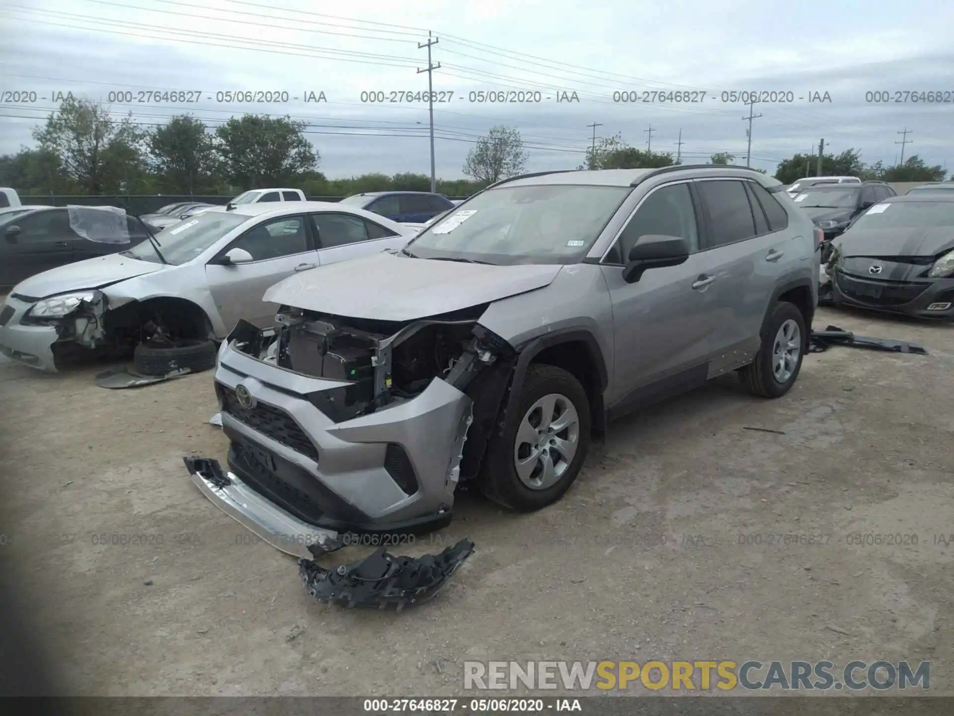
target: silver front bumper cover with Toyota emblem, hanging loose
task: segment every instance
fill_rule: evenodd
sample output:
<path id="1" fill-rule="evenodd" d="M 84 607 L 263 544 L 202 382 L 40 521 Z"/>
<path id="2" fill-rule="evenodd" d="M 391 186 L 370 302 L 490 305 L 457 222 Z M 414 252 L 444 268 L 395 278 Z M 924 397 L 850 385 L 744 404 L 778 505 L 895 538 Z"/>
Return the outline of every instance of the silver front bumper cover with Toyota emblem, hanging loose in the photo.
<path id="1" fill-rule="evenodd" d="M 450 521 L 472 411 L 460 390 L 435 378 L 413 399 L 336 423 L 309 396 L 348 384 L 281 369 L 229 341 L 215 380 L 229 469 L 257 500 L 233 500 L 239 521 L 260 522 L 262 504 L 336 535 Z M 221 506 L 221 495 L 203 493 Z"/>

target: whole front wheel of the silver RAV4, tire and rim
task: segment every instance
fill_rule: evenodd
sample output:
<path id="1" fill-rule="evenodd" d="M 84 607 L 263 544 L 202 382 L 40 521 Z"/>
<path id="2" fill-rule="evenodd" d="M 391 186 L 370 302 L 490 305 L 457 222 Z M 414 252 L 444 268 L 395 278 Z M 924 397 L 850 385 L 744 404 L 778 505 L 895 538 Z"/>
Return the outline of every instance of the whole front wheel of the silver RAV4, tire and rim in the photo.
<path id="1" fill-rule="evenodd" d="M 590 447 L 590 401 L 567 370 L 534 364 L 519 406 L 516 424 L 501 425 L 490 441 L 478 482 L 494 502 L 532 512 L 562 497 L 579 474 Z"/>

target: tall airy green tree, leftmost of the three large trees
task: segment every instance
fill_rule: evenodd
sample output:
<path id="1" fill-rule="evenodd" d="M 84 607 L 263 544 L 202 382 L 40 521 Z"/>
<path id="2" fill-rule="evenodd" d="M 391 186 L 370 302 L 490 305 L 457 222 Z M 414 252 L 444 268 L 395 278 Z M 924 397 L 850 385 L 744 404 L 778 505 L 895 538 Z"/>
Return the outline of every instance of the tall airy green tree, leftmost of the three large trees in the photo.
<path id="1" fill-rule="evenodd" d="M 132 114 L 116 121 L 101 104 L 73 98 L 33 130 L 40 150 L 58 157 L 66 177 L 86 194 L 129 191 L 141 180 L 144 137 Z"/>

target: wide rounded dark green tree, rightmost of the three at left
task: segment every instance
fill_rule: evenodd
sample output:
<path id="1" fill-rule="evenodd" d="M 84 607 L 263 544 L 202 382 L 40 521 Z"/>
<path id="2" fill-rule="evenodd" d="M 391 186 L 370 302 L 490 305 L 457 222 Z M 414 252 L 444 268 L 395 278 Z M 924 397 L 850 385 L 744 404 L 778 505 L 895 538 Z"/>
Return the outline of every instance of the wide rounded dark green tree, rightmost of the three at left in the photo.
<path id="1" fill-rule="evenodd" d="M 319 153 L 304 137 L 305 122 L 243 115 L 216 128 L 218 155 L 228 179 L 254 189 L 301 181 L 318 168 Z"/>

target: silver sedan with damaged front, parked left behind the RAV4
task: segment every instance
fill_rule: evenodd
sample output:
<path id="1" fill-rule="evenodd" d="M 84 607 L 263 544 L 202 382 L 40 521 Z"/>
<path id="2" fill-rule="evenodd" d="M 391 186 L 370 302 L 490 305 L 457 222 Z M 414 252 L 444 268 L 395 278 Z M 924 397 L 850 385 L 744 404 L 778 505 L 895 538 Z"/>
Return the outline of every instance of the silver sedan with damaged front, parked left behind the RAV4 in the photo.
<path id="1" fill-rule="evenodd" d="M 311 268 L 404 246 L 404 225 L 321 201 L 239 204 L 180 221 L 155 239 L 37 274 L 0 314 L 0 351 L 55 370 L 59 349 L 132 351 L 161 334 L 221 340 L 239 318 L 271 324 L 270 285 Z M 215 351 L 213 350 L 213 353 Z"/>

